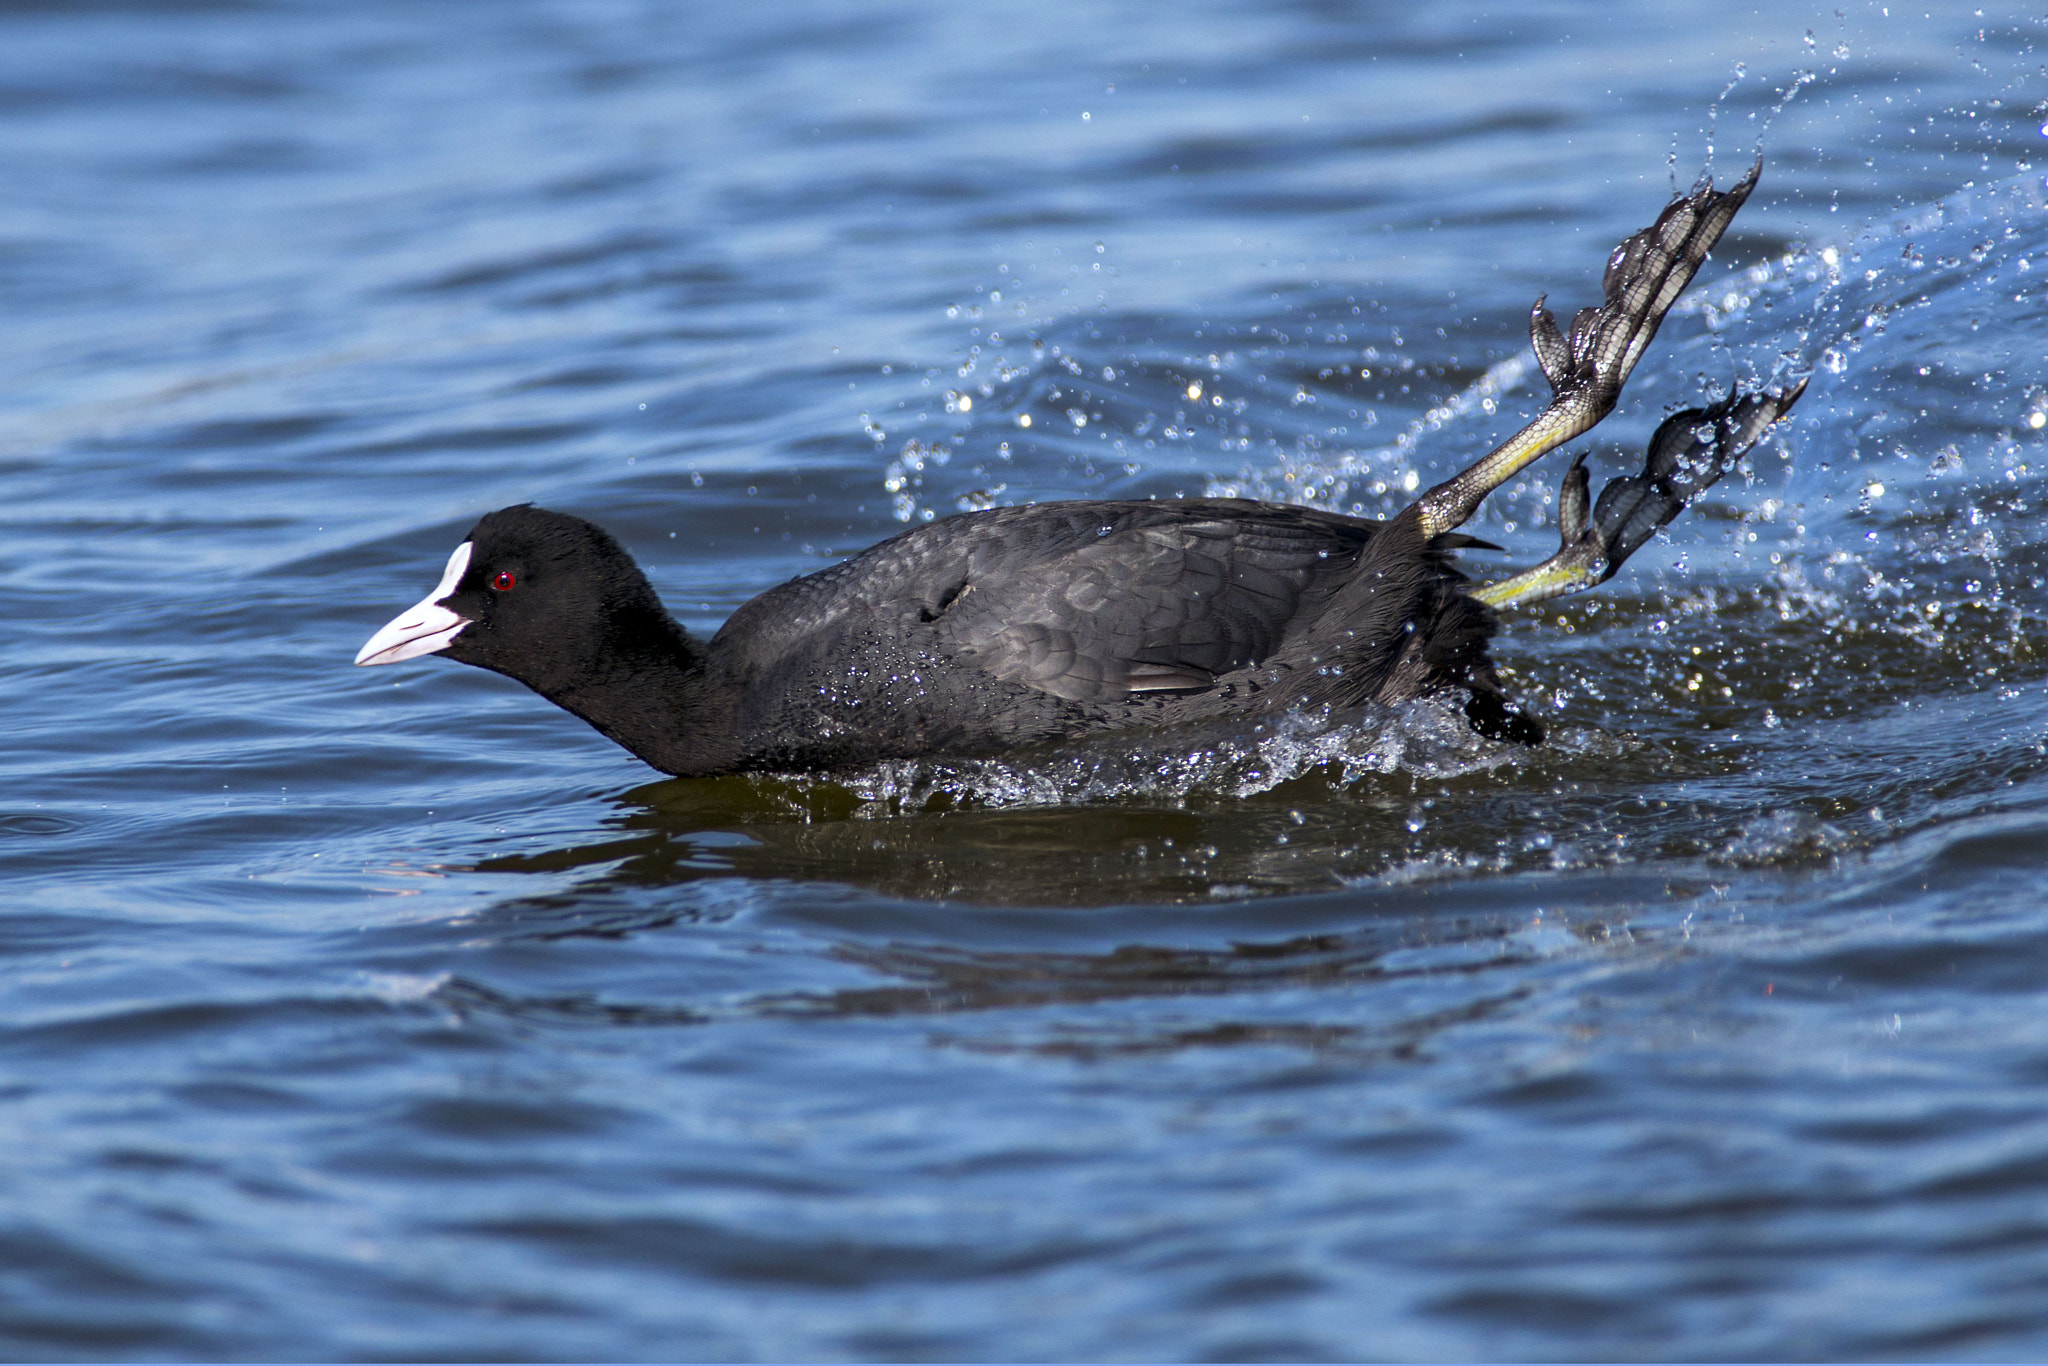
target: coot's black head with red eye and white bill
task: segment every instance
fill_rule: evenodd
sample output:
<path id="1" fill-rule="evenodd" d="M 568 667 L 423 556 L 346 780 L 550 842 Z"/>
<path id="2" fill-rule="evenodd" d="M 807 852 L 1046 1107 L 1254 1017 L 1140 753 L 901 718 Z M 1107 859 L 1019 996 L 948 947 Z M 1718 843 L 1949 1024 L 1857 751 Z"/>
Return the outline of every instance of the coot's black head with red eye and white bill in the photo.
<path id="1" fill-rule="evenodd" d="M 553 696 L 678 637 L 610 532 L 522 504 L 477 522 L 434 592 L 373 635 L 356 664 L 442 653 Z"/>

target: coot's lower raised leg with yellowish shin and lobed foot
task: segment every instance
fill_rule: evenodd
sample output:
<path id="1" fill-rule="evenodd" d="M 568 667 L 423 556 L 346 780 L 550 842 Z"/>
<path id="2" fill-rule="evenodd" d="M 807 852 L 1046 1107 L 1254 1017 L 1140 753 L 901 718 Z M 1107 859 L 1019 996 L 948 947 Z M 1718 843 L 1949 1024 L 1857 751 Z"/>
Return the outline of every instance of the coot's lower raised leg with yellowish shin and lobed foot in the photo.
<path id="1" fill-rule="evenodd" d="M 1712 408 L 1688 408 L 1665 418 L 1651 436 L 1640 475 L 1622 475 L 1599 489 L 1587 514 L 1585 457 L 1565 471 L 1556 498 L 1556 555 L 1473 596 L 1493 608 L 1544 602 L 1614 578 L 1657 528 L 1724 475 L 1778 422 L 1806 381 L 1763 393 L 1733 391 Z"/>

